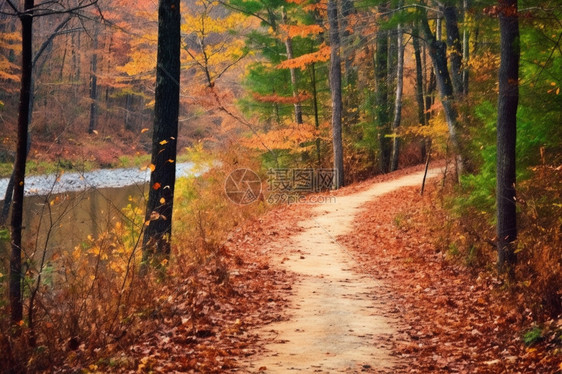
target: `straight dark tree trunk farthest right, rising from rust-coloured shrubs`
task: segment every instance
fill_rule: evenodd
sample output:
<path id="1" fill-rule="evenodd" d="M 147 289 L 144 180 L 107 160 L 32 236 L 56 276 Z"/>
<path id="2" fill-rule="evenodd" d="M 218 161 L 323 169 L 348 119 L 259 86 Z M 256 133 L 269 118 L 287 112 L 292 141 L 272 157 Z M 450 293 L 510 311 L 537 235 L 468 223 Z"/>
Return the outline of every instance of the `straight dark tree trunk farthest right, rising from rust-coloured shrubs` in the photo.
<path id="1" fill-rule="evenodd" d="M 498 268 L 513 274 L 517 238 L 515 206 L 515 140 L 519 100 L 519 20 L 517 0 L 499 0 L 501 62 L 498 76 L 497 124 L 497 248 Z"/>

